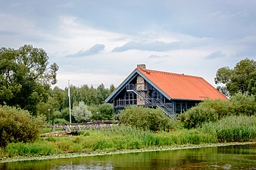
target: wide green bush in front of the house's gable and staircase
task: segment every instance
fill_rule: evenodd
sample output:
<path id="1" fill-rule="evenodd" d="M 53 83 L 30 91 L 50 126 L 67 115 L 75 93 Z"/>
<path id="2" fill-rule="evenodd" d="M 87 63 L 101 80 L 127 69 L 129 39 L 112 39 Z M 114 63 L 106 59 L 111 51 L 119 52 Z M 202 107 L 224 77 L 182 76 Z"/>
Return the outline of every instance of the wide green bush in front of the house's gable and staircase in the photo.
<path id="1" fill-rule="evenodd" d="M 148 107 L 127 107 L 120 112 L 120 121 L 144 130 L 167 130 L 170 119 L 160 109 Z"/>

